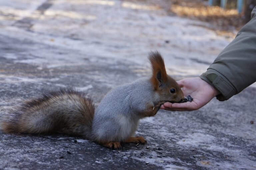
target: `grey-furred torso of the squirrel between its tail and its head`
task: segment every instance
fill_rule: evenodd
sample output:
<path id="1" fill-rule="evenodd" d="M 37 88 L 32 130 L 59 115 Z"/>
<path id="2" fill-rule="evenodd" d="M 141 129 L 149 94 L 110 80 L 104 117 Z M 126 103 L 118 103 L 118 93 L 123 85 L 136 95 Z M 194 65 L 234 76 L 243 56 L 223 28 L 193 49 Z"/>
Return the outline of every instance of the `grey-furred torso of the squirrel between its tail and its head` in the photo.
<path id="1" fill-rule="evenodd" d="M 147 105 L 154 105 L 158 101 L 159 96 L 154 92 L 149 78 L 112 89 L 95 110 L 93 139 L 124 141 L 136 131 Z"/>

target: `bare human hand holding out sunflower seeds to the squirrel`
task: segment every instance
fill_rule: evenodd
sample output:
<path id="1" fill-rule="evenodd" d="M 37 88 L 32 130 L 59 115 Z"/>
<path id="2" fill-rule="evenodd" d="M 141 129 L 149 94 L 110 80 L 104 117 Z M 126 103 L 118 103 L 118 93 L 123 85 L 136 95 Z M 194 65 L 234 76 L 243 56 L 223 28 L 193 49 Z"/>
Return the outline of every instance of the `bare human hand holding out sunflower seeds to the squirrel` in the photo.
<path id="1" fill-rule="evenodd" d="M 170 103 L 165 102 L 161 105 L 161 109 L 170 111 L 191 111 L 197 110 L 207 104 L 213 97 L 220 92 L 212 85 L 208 84 L 199 77 L 183 79 L 177 82 L 183 88 L 185 96 L 191 95 L 192 102 Z"/>

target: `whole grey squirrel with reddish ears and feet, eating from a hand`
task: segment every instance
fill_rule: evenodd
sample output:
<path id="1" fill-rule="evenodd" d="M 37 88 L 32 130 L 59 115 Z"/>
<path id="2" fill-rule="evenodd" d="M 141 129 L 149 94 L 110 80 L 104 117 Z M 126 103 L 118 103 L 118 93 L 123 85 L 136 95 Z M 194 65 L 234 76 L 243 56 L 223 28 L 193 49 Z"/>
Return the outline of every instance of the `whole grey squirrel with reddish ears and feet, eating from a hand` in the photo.
<path id="1" fill-rule="evenodd" d="M 151 77 L 113 88 L 96 109 L 86 93 L 62 88 L 25 102 L 8 115 L 2 129 L 9 133 L 79 135 L 112 149 L 121 149 L 125 142 L 145 144 L 144 137 L 132 137 L 139 119 L 156 115 L 165 101 L 184 99 L 180 86 L 166 74 L 161 55 L 150 52 L 148 59 Z"/>

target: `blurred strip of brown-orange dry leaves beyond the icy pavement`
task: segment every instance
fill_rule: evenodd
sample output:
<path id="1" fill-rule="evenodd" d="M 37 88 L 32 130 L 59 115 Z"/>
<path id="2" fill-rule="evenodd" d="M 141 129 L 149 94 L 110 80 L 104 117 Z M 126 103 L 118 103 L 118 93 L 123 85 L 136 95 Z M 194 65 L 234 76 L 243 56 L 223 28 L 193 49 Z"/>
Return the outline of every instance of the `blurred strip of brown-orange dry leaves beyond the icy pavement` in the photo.
<path id="1" fill-rule="evenodd" d="M 207 0 L 126 0 L 146 3 L 165 9 L 168 13 L 208 22 L 207 28 L 227 37 L 234 37 L 244 25 L 243 16 L 236 9 L 208 6 Z"/>

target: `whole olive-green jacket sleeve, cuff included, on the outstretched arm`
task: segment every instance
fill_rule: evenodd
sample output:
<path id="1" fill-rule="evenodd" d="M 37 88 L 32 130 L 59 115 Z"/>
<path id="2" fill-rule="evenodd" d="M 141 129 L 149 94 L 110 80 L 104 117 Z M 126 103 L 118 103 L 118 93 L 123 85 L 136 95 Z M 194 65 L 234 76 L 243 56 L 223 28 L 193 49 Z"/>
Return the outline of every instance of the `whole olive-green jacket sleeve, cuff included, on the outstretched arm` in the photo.
<path id="1" fill-rule="evenodd" d="M 224 101 L 256 82 L 256 7 L 251 21 L 200 76 L 220 91 Z"/>

